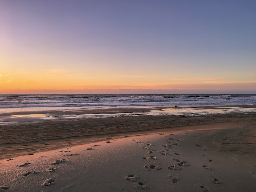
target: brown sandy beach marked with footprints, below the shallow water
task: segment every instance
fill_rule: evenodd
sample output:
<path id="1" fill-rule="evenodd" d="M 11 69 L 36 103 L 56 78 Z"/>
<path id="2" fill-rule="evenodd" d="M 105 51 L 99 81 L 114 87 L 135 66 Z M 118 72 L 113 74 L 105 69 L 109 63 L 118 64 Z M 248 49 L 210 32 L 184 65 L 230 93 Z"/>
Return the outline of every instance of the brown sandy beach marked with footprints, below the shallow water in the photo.
<path id="1" fill-rule="evenodd" d="M 63 113 L 42 121 L 29 112 L 8 114 L 21 116 L 19 123 L 0 125 L 0 192 L 256 188 L 255 113 L 58 118 Z"/>

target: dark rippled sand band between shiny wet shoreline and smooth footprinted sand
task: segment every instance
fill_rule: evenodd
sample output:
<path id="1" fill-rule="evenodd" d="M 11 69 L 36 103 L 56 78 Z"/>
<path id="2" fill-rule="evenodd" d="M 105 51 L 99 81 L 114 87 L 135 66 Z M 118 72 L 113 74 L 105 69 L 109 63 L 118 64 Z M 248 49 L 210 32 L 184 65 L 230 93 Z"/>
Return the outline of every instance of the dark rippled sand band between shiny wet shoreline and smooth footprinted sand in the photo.
<path id="1" fill-rule="evenodd" d="M 150 132 L 177 130 L 191 126 L 211 126 L 216 123 L 256 121 L 256 113 L 213 114 L 201 116 L 125 116 L 109 118 L 74 118 L 32 121 L 0 125 L 0 159 L 60 146 L 74 146 L 108 138 L 144 135 Z"/>

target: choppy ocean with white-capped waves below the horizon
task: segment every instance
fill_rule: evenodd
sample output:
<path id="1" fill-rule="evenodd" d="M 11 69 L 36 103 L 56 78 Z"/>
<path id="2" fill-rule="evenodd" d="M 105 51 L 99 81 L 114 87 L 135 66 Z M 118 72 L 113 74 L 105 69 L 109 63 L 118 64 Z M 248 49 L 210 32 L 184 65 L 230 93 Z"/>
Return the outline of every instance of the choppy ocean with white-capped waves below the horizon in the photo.
<path id="1" fill-rule="evenodd" d="M 256 95 L 0 94 L 0 113 L 136 107 L 256 104 Z"/>

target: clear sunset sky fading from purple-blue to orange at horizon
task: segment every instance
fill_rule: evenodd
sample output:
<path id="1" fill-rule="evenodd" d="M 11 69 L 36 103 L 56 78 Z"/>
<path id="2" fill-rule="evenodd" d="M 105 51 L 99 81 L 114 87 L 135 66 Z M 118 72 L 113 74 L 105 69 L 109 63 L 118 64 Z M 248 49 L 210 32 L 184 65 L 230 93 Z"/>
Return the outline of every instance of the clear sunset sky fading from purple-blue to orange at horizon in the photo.
<path id="1" fill-rule="evenodd" d="M 0 0 L 0 94 L 256 94 L 256 1 Z"/>

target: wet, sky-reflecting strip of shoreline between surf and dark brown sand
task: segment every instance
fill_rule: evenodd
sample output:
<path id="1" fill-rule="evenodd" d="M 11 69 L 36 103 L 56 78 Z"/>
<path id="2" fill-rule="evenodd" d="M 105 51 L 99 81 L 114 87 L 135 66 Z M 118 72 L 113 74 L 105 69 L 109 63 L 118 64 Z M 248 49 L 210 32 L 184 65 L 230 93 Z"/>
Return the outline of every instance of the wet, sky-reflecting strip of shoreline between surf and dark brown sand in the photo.
<path id="1" fill-rule="evenodd" d="M 204 116 L 204 115 L 232 115 L 250 114 L 256 112 L 255 105 L 216 105 L 202 107 L 148 107 L 148 108 L 104 108 L 62 111 L 20 111 L 0 113 L 0 123 L 10 126 L 33 122 L 72 121 L 77 119 L 104 119 L 130 116 Z M 1 128 L 1 127 L 0 127 Z"/>

